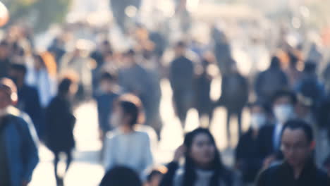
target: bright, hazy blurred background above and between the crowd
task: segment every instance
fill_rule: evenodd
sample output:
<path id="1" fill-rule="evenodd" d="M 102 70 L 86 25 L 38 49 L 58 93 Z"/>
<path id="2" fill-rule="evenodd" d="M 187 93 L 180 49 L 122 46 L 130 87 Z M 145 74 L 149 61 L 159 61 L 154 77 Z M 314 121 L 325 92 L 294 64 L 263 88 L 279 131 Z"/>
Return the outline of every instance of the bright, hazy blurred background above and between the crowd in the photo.
<path id="1" fill-rule="evenodd" d="M 253 89 L 259 72 L 269 68 L 271 56 L 281 58 L 283 69 L 288 68 L 292 51 L 302 61 L 317 63 L 317 75 L 329 90 L 329 73 L 324 71 L 330 61 L 330 1 L 324 0 L 1 0 L 8 8 L 9 20 L 0 28 L 0 40 L 17 42 L 23 54 L 50 51 L 60 47 L 63 54 L 55 55 L 58 69 L 54 80 L 66 73 L 61 66 L 63 56 L 76 49 L 82 51 L 87 73 L 79 71 L 85 94 L 75 104 L 74 135 L 76 141 L 73 164 L 64 180 L 65 185 L 98 185 L 104 175 L 99 154 L 97 80 L 99 63 L 91 54 L 100 51 L 103 42 L 111 44 L 110 61 L 121 68 L 121 54 L 135 49 L 144 68 L 154 74 L 159 86 L 159 113 L 162 130 L 154 152 L 157 163 L 167 163 L 173 151 L 182 144 L 183 132 L 210 123 L 212 134 L 223 153 L 226 165 L 233 166 L 234 148 L 238 143 L 236 119 L 231 122 L 231 141 L 226 137 L 226 108 L 214 108 L 213 118 L 199 118 L 196 108 L 189 109 L 185 128 L 173 109 L 169 66 L 174 57 L 173 46 L 185 41 L 196 66 L 201 58 L 210 58 L 207 73 L 210 77 L 209 96 L 216 102 L 221 97 L 222 77 L 231 65 L 221 63 L 216 44 L 224 44 L 238 71 L 247 79 L 248 100 L 256 100 Z M 0 15 L 1 9 L 0 6 Z M 155 36 L 155 37 L 151 37 Z M 56 45 L 55 41 L 61 42 Z M 220 51 L 223 51 L 223 49 Z M 150 53 L 148 53 L 150 52 Z M 159 52 L 159 53 L 158 53 Z M 224 51 L 226 53 L 226 51 Z M 93 62 L 94 61 L 94 62 Z M 32 62 L 31 62 L 32 63 Z M 108 63 L 108 62 L 106 62 Z M 111 62 L 112 63 L 112 62 Z M 111 63 L 109 62 L 110 66 Z M 29 62 L 27 62 L 29 66 Z M 33 65 L 31 65 L 33 66 Z M 104 67 L 102 67 L 104 68 Z M 111 66 L 111 69 L 114 67 Z M 198 74 L 198 68 L 196 69 Z M 88 75 L 90 77 L 87 77 Z M 157 89 L 157 88 L 156 88 Z M 96 92 L 96 93 L 95 93 Z M 243 109 L 243 131 L 250 128 L 250 114 Z M 157 131 L 158 132 L 158 131 Z M 40 162 L 30 185 L 56 185 L 54 156 L 41 144 Z M 62 162 L 63 164 L 63 162 Z M 64 169 L 64 165 L 60 169 Z"/>

